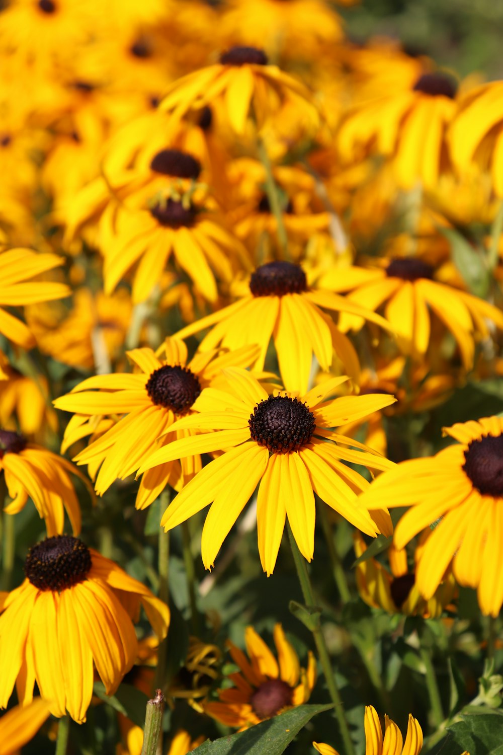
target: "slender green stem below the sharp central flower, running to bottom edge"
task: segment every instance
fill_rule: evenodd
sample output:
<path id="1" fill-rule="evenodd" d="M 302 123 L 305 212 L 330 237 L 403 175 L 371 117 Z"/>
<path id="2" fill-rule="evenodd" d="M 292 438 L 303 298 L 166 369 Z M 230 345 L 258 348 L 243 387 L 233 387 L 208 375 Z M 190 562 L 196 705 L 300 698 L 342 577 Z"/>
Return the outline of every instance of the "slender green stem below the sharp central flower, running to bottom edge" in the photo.
<path id="1" fill-rule="evenodd" d="M 314 601 L 314 593 L 311 585 L 311 580 L 308 575 L 308 567 L 305 562 L 302 553 L 299 551 L 299 547 L 296 544 L 293 537 L 290 525 L 288 525 L 288 537 L 290 538 L 290 546 L 292 548 L 293 560 L 295 562 L 297 576 L 299 577 L 299 583 L 304 596 L 305 605 L 308 608 L 316 609 L 316 602 Z M 325 676 L 325 683 L 330 694 L 330 698 L 334 704 L 334 710 L 339 722 L 339 729 L 344 742 L 346 755 L 354 755 L 354 744 L 351 740 L 351 734 L 349 732 L 348 722 L 346 720 L 344 707 L 342 705 L 341 695 L 339 689 L 337 689 L 336 677 L 333 674 L 332 664 L 330 662 L 330 655 L 327 649 L 327 643 L 325 642 L 324 633 L 321 630 L 321 626 L 317 624 L 312 630 L 314 643 L 316 645 L 318 658 L 320 659 L 321 667 Z"/>

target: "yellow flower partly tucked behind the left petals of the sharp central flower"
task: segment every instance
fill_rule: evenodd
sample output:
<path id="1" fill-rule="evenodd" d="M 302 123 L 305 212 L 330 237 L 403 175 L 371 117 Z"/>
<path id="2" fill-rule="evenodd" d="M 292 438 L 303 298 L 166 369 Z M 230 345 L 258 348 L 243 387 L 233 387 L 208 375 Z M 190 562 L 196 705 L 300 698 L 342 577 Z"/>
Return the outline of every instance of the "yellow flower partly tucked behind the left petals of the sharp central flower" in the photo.
<path id="1" fill-rule="evenodd" d="M 183 341 L 168 338 L 161 353 L 152 349 L 134 349 L 127 352 L 130 361 L 139 371 L 135 374 L 106 374 L 89 377 L 78 384 L 72 393 L 54 402 L 57 408 L 72 411 L 84 417 L 101 418 L 103 414 L 124 416 L 84 451 L 75 461 L 100 467 L 96 479 L 99 495 L 115 479 L 124 479 L 136 472 L 147 455 L 179 436 L 171 433 L 176 418 L 192 412 L 192 405 L 201 390 L 211 384 L 218 385 L 222 368 L 247 366 L 256 356 L 256 347 L 243 347 L 235 353 L 213 350 L 198 353 L 187 363 L 187 347 Z M 78 419 L 66 430 L 65 445 L 71 445 L 97 427 L 81 427 Z M 101 465 L 101 466 L 100 466 Z M 173 458 L 143 476 L 136 498 L 136 507 L 145 508 L 155 501 L 169 483 L 179 489 L 201 469 L 201 457 Z"/>

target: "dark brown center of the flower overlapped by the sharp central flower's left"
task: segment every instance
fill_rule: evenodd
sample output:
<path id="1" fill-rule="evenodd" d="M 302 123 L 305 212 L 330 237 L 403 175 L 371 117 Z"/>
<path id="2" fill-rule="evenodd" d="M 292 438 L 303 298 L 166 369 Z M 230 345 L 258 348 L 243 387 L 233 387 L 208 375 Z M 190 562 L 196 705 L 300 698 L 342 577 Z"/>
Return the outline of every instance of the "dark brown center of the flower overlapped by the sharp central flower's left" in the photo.
<path id="1" fill-rule="evenodd" d="M 201 384 L 188 368 L 164 365 L 152 372 L 146 390 L 155 404 L 182 414 L 198 398 Z"/>

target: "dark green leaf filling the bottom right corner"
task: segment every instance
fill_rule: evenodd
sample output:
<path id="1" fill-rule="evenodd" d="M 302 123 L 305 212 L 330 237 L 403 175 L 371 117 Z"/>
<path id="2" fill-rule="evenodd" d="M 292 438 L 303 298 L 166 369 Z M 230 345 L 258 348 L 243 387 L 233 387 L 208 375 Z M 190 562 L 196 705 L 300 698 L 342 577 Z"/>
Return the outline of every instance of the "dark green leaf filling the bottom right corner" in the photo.
<path id="1" fill-rule="evenodd" d="M 503 715 L 498 711 L 474 709 L 449 726 L 446 736 L 431 750 L 431 755 L 503 755 Z"/>

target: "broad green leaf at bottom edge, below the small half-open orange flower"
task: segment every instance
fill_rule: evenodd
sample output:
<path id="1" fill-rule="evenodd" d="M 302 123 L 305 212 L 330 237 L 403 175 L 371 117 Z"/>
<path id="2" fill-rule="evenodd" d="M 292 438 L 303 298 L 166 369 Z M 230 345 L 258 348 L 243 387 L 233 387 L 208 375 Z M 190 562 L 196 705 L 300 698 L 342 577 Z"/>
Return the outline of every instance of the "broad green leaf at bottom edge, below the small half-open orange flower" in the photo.
<path id="1" fill-rule="evenodd" d="M 194 755 L 281 755 L 308 721 L 333 705 L 299 705 L 245 732 L 204 742 Z M 458 753 L 459 755 L 459 753 Z"/>

